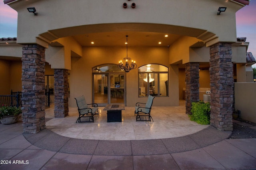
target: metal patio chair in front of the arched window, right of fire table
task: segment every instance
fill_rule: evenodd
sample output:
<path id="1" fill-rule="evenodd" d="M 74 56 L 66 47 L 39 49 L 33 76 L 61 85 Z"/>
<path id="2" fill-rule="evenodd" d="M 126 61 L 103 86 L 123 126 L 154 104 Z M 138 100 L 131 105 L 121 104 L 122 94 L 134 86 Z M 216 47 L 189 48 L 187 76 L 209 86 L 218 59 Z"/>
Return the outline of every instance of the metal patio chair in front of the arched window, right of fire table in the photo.
<path id="1" fill-rule="evenodd" d="M 153 104 L 153 100 L 155 97 L 149 95 L 147 103 L 136 103 L 134 115 L 136 115 L 136 121 L 151 121 L 152 117 L 150 115 L 151 107 Z M 144 107 L 140 106 L 140 104 L 145 105 Z M 141 119 L 144 117 L 145 119 Z M 154 121 L 152 119 L 152 121 Z"/>

